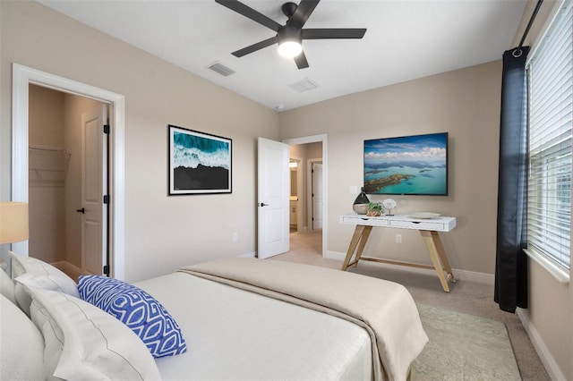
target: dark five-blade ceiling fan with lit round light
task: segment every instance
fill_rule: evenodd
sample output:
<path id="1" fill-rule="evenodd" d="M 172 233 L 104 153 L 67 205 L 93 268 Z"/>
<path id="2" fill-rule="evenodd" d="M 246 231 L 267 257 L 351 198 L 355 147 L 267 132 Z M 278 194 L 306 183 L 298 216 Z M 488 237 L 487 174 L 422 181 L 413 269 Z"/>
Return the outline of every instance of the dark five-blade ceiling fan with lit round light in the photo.
<path id="1" fill-rule="evenodd" d="M 304 39 L 363 38 L 364 33 L 366 33 L 364 28 L 303 29 L 304 24 L 308 21 L 320 0 L 301 0 L 300 4 L 283 4 L 281 10 L 288 18 L 285 25 L 280 25 L 277 21 L 269 19 L 269 17 L 238 0 L 215 0 L 215 2 L 277 32 L 275 37 L 267 38 L 233 52 L 232 55 L 235 55 L 235 57 L 242 57 L 263 47 L 270 47 L 278 43 L 278 53 L 294 58 L 296 67 L 304 69 L 308 67 L 308 61 L 302 46 Z"/>

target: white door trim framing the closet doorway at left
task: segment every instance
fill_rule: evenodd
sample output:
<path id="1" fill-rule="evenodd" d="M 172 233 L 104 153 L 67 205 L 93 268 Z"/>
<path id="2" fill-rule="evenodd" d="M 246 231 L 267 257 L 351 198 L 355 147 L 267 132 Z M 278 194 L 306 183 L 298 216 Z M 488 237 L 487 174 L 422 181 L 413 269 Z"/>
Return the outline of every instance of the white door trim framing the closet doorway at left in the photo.
<path id="1" fill-rule="evenodd" d="M 12 67 L 12 200 L 28 202 L 28 112 L 29 86 L 35 84 L 65 93 L 90 97 L 111 105 L 110 116 L 114 128 L 109 134 L 109 188 L 114 199 L 109 216 L 109 258 L 111 276 L 124 279 L 124 136 L 125 97 L 106 89 L 99 89 L 75 80 L 68 80 L 48 72 L 13 63 Z M 28 255 L 28 241 L 12 244 L 12 249 Z"/>

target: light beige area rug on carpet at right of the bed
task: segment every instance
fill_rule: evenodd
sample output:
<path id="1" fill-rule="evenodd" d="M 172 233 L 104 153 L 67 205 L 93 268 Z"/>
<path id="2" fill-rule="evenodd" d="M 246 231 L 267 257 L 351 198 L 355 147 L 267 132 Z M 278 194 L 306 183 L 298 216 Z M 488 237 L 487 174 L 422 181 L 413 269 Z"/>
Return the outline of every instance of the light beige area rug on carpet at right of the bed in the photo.
<path id="1" fill-rule="evenodd" d="M 412 380 L 521 380 L 503 323 L 417 306 L 430 342 L 413 364 Z"/>

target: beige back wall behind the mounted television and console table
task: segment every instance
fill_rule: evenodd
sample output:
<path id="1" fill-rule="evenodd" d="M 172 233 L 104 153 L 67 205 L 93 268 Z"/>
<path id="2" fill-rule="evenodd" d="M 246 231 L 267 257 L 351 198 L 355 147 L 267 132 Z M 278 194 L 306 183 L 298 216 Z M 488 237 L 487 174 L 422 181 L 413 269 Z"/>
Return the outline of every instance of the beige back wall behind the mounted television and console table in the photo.
<path id="1" fill-rule="evenodd" d="M 338 224 L 338 216 L 352 212 L 357 195 L 349 186 L 363 184 L 363 140 L 448 131 L 449 196 L 395 196 L 396 212 L 457 216 L 458 228 L 442 234 L 452 267 L 493 274 L 500 71 L 500 62 L 485 63 L 280 114 L 281 139 L 328 134 L 327 250 L 346 252 L 352 236 L 353 227 Z M 395 233 L 403 243 L 395 243 Z M 365 255 L 430 264 L 416 231 L 372 234 Z"/>

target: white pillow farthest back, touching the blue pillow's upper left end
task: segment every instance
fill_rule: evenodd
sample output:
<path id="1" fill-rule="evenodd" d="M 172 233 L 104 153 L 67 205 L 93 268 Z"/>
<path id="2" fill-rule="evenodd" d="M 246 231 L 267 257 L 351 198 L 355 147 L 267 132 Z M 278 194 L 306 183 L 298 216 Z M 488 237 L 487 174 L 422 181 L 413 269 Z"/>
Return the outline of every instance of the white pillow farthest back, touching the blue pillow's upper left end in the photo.
<path id="1" fill-rule="evenodd" d="M 29 279 L 34 280 L 33 285 L 38 288 L 65 292 L 76 298 L 80 297 L 78 285 L 73 282 L 71 277 L 65 275 L 64 272 L 56 267 L 38 258 L 21 256 L 12 251 L 8 251 L 8 254 L 12 258 L 12 277 L 14 280 L 26 275 Z M 21 310 L 30 316 L 30 303 L 32 300 L 30 294 L 22 288 L 21 284 L 16 283 L 14 296 Z"/>

